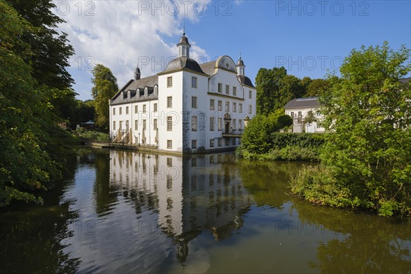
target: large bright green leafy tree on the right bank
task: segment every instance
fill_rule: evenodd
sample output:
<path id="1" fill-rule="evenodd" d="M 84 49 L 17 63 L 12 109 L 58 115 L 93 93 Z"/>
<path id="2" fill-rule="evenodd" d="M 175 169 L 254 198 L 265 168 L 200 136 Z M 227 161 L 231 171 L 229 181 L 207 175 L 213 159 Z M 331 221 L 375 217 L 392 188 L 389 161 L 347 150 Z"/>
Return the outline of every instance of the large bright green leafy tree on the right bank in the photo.
<path id="1" fill-rule="evenodd" d="M 411 70 L 409 57 L 409 49 L 393 51 L 387 42 L 351 51 L 342 78 L 322 97 L 323 124 L 334 131 L 321 154 L 325 175 L 306 171 L 293 192 L 308 197 L 310 188 L 300 186 L 318 181 L 329 185 L 322 190 L 328 197 L 344 189 L 351 206 L 411 216 L 411 86 L 399 81 Z"/>

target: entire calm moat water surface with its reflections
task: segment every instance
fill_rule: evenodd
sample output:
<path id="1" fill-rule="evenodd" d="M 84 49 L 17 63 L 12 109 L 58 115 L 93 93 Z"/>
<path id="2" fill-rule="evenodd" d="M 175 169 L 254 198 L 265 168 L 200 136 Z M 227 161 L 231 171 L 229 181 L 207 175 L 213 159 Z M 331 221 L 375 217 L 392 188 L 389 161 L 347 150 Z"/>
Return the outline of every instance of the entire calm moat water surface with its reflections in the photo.
<path id="1" fill-rule="evenodd" d="M 411 273 L 406 221 L 288 195 L 303 162 L 78 149 L 0 212 L 1 273 Z"/>

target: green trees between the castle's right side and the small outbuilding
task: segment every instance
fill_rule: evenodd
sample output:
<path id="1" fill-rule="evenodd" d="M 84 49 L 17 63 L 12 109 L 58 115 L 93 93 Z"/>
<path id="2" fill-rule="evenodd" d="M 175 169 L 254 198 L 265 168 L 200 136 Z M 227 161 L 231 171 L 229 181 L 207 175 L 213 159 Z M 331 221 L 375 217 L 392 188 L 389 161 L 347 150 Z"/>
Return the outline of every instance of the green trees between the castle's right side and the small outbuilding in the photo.
<path id="1" fill-rule="evenodd" d="M 296 97 L 303 97 L 305 88 L 301 80 L 287 75 L 286 69 L 260 69 L 256 77 L 257 113 L 269 114 L 284 108 Z"/>

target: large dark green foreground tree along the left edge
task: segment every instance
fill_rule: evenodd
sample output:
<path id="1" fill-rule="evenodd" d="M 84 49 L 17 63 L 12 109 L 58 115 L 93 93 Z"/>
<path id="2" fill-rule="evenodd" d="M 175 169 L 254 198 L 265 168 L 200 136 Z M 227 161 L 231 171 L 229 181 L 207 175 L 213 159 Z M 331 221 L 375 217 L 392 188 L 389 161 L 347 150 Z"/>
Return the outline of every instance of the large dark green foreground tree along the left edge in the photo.
<path id="1" fill-rule="evenodd" d="M 51 100 L 58 90 L 32 77 L 37 53 L 23 37 L 36 27 L 3 0 L 0 10 L 0 206 L 41 203 L 36 195 L 60 177 L 67 151 L 61 142 L 71 139 L 57 126 Z"/>

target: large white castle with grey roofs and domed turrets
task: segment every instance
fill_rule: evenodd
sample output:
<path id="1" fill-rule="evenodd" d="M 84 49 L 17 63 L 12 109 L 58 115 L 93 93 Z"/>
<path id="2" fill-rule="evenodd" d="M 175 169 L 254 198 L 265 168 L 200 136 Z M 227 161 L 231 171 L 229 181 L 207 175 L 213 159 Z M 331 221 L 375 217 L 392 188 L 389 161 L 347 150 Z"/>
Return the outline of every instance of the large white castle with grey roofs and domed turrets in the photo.
<path id="1" fill-rule="evenodd" d="M 134 79 L 110 100 L 113 143 L 171 153 L 233 149 L 256 114 L 256 88 L 245 64 L 227 55 L 198 64 L 183 34 L 178 58 L 157 75 Z"/>

